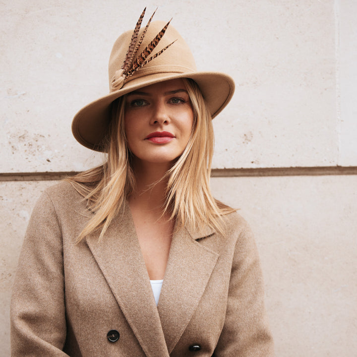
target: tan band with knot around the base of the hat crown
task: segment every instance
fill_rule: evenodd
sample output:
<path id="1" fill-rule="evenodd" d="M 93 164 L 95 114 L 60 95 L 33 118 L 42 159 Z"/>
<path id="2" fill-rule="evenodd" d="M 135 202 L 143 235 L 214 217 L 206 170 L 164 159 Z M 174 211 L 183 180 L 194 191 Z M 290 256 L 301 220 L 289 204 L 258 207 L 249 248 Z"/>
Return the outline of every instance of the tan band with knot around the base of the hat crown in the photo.
<path id="1" fill-rule="evenodd" d="M 146 68 L 140 68 L 135 72 L 135 74 L 131 75 L 130 77 L 125 77 L 123 75 L 123 70 L 118 69 L 112 80 L 111 80 L 111 85 L 110 85 L 110 91 L 115 92 L 119 89 L 122 88 L 122 86 L 126 83 L 129 83 L 130 81 L 141 78 L 147 75 L 151 74 L 159 74 L 159 73 L 192 73 L 196 69 L 195 68 L 188 68 L 185 66 L 181 65 L 156 65 L 156 66 L 150 66 Z M 143 83 L 143 86 L 145 84 Z"/>

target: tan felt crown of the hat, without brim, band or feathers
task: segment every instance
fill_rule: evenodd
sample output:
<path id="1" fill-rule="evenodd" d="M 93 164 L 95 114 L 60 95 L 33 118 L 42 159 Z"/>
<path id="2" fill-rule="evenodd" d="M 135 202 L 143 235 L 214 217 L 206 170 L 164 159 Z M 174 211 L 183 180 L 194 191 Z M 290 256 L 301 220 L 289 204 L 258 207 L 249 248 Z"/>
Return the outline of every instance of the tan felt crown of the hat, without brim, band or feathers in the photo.
<path id="1" fill-rule="evenodd" d="M 141 52 L 149 45 L 149 43 L 155 38 L 155 36 L 161 31 L 161 29 L 166 25 L 164 21 L 154 21 L 151 22 L 145 37 L 134 57 L 134 60 L 140 56 Z M 144 29 L 139 31 L 138 37 L 141 36 Z M 110 59 L 109 59 L 109 84 L 118 80 L 118 75 L 120 75 L 121 67 L 124 63 L 127 49 L 129 47 L 131 36 L 133 30 L 124 32 L 119 36 L 117 41 L 114 43 Z M 188 73 L 195 72 L 196 64 L 192 53 L 180 36 L 179 32 L 171 25 L 167 28 L 165 35 L 162 37 L 158 45 L 155 47 L 151 55 L 155 55 L 160 52 L 163 48 L 174 42 L 166 51 L 160 54 L 157 58 L 145 64 L 143 67 L 139 68 L 133 75 L 124 80 L 125 84 L 129 83 L 131 80 L 142 77 L 149 74 L 155 73 Z M 123 85 L 123 88 L 125 87 Z M 115 89 L 111 87 L 111 91 Z"/>

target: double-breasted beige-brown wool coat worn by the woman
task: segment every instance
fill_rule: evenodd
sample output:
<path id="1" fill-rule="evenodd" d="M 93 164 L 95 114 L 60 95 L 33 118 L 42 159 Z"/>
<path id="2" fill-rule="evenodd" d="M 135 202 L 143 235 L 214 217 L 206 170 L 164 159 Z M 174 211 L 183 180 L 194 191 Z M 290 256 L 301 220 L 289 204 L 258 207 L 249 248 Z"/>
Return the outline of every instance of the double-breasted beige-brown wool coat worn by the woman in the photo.
<path id="1" fill-rule="evenodd" d="M 13 357 L 273 356 L 256 246 L 237 213 L 225 236 L 175 231 L 158 306 L 128 206 L 102 240 L 75 244 L 91 214 L 67 182 L 36 204 L 11 300 Z"/>

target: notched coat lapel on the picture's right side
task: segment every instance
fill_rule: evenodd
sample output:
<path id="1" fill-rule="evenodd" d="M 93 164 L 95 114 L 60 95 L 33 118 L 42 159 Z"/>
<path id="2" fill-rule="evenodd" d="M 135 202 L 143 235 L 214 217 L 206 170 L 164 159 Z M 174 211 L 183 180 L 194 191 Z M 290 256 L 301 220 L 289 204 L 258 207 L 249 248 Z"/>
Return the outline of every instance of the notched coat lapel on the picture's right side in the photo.
<path id="1" fill-rule="evenodd" d="M 169 353 L 196 310 L 216 265 L 219 254 L 195 240 L 211 234 L 185 229 L 174 234 L 158 304 Z"/>

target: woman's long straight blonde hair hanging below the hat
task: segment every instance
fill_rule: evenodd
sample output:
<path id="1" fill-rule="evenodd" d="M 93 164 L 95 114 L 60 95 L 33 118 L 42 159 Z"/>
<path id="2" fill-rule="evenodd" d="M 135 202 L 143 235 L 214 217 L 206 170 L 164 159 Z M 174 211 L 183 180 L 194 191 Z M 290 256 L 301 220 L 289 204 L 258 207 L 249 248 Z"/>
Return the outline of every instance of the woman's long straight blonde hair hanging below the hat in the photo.
<path id="1" fill-rule="evenodd" d="M 193 110 L 193 126 L 186 148 L 167 172 L 166 204 L 169 214 L 179 227 L 199 229 L 208 226 L 223 233 L 222 216 L 235 211 L 215 200 L 209 180 L 214 149 L 212 118 L 198 85 L 184 79 Z M 124 129 L 125 96 L 113 103 L 112 120 L 106 138 L 107 162 L 97 168 L 67 178 L 90 203 L 95 213 L 78 237 L 101 230 L 102 238 L 135 187 L 131 154 L 126 145 Z"/>

